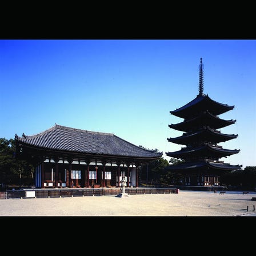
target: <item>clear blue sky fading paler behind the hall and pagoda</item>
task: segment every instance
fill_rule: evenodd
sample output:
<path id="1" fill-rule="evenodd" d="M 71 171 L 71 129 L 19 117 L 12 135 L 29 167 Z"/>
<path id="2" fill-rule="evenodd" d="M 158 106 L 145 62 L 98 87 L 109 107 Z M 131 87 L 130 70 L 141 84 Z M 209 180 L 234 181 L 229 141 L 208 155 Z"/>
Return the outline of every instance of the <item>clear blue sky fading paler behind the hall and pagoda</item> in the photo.
<path id="1" fill-rule="evenodd" d="M 57 125 L 114 133 L 163 157 L 183 145 L 167 138 L 183 121 L 170 110 L 204 91 L 235 108 L 219 115 L 236 119 L 220 143 L 240 153 L 222 158 L 256 166 L 256 40 L 0 40 L 0 137 L 34 135 Z"/>

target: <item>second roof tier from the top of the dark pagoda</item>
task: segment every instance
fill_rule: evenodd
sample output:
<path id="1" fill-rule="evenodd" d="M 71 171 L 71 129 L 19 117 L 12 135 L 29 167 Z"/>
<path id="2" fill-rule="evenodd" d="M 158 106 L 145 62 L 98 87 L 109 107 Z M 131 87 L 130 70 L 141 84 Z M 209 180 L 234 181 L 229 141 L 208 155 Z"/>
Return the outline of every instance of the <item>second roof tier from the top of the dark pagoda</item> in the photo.
<path id="1" fill-rule="evenodd" d="M 202 127 L 205 125 L 210 126 L 212 129 L 220 129 L 229 125 L 233 125 L 235 122 L 236 120 L 221 119 L 209 113 L 209 111 L 205 111 L 205 113 L 198 115 L 198 117 L 186 119 L 180 123 L 172 123 L 169 125 L 169 127 L 178 131 L 190 131 L 191 127 Z"/>

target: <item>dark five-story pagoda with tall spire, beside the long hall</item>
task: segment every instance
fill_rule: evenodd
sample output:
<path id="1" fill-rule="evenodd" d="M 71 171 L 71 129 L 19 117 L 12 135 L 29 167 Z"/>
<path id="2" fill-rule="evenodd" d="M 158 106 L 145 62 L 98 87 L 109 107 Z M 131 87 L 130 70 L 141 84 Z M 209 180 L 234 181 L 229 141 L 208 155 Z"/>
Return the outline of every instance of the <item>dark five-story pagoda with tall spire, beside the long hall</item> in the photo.
<path id="1" fill-rule="evenodd" d="M 182 159 L 178 165 L 170 165 L 169 170 L 184 175 L 183 185 L 187 186 L 219 186 L 220 174 L 241 169 L 242 165 L 230 165 L 220 158 L 239 153 L 240 150 L 223 149 L 218 143 L 237 138 L 235 134 L 224 134 L 218 129 L 232 125 L 236 120 L 225 120 L 218 117 L 234 106 L 213 101 L 208 94 L 203 94 L 203 64 L 199 65 L 199 94 L 193 101 L 170 111 L 170 114 L 183 118 L 180 123 L 169 127 L 183 134 L 167 140 L 185 145 L 181 150 L 166 153 L 171 158 Z"/>

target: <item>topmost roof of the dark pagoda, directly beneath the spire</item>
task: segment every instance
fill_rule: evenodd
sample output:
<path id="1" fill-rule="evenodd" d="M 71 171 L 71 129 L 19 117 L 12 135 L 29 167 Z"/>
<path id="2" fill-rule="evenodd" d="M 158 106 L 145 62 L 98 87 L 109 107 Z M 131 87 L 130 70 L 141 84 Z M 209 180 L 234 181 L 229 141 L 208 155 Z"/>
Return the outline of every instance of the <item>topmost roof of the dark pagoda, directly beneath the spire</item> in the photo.
<path id="1" fill-rule="evenodd" d="M 198 94 L 193 101 L 190 101 L 186 105 L 170 111 L 172 115 L 180 118 L 190 118 L 194 113 L 201 111 L 210 111 L 213 115 L 223 114 L 229 110 L 234 109 L 234 106 L 222 104 L 211 99 L 208 95 Z"/>

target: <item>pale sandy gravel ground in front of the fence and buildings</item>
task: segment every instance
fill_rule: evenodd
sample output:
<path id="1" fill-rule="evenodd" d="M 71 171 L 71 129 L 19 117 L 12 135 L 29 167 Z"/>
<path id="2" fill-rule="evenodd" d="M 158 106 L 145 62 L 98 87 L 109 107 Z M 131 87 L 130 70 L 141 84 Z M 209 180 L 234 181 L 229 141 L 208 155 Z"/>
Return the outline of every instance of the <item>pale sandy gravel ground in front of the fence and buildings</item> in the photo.
<path id="1" fill-rule="evenodd" d="M 256 192 L 114 195 L 0 200 L 0 216 L 253 216 Z M 248 206 L 248 211 L 247 211 Z"/>

